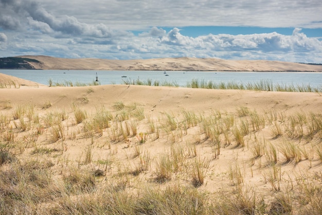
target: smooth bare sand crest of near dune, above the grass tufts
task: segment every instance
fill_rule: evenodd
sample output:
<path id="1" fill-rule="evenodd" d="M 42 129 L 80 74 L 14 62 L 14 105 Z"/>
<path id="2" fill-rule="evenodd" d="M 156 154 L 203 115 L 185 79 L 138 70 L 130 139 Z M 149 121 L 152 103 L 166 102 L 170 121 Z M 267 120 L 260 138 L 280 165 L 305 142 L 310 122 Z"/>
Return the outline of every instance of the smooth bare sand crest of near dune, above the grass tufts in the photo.
<path id="1" fill-rule="evenodd" d="M 90 89 L 93 92 L 88 93 Z M 96 105 L 111 106 L 114 102 L 139 103 L 146 112 L 191 110 L 211 112 L 236 111 L 240 106 L 257 111 L 318 112 L 322 97 L 317 93 L 256 92 L 239 90 L 193 89 L 138 85 L 101 85 L 86 87 L 40 87 L 1 89 L 0 101 L 12 104 L 32 102 L 41 108 L 49 100 L 56 108 L 70 108 L 73 102 L 83 103 L 87 109 Z"/>

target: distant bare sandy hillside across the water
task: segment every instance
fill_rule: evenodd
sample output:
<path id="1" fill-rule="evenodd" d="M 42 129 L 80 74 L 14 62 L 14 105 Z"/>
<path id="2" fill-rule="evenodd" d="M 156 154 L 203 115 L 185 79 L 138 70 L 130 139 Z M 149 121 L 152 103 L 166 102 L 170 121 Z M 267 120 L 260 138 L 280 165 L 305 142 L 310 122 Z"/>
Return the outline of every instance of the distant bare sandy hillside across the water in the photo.
<path id="1" fill-rule="evenodd" d="M 145 60 L 64 59 L 49 56 L 20 56 L 36 59 L 36 69 L 93 70 L 203 70 L 203 71 L 322 71 L 322 65 L 264 60 L 222 60 L 217 58 L 159 58 Z"/>

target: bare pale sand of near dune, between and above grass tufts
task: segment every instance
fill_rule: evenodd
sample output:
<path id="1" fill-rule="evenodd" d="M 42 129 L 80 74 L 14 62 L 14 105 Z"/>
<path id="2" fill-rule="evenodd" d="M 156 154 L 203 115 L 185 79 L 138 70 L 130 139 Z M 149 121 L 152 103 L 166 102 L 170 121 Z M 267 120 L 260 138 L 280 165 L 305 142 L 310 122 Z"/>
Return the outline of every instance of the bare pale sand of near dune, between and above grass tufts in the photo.
<path id="1" fill-rule="evenodd" d="M 289 138 L 286 133 L 276 137 L 272 132 L 274 123 L 281 123 L 285 126 L 287 123 L 284 123 L 284 121 L 287 121 L 290 116 L 302 114 L 309 117 L 311 113 L 320 116 L 322 96 L 319 93 L 260 92 L 138 85 L 48 87 L 3 74 L 0 74 L 0 80 L 5 83 L 9 83 L 11 80 L 22 85 L 21 87 L 0 88 L 0 115 L 11 116 L 14 109 L 19 105 L 33 106 L 41 117 L 45 117 L 50 112 L 62 110 L 68 113 L 68 119 L 63 122 L 66 139 L 63 141 L 65 148 L 63 147 L 62 155 L 46 155 L 55 164 L 59 164 L 64 156 L 68 156 L 70 164 L 73 162 L 77 164 L 78 160 L 83 159 L 86 147 L 93 146 L 93 160 L 107 159 L 106 157 L 113 153 L 113 156 L 116 157 L 115 159 L 123 164 L 118 168 L 123 168 L 123 166 L 135 168 L 138 165 L 138 158 L 133 157 L 132 154 L 135 152 L 135 147 L 139 146 L 141 151 L 148 151 L 152 157 L 151 170 L 141 173 L 139 181 L 140 183 L 150 183 L 150 186 L 154 186 L 154 183 L 151 185 L 151 178 L 155 177 L 156 163 L 160 155 L 169 154 L 171 146 L 181 145 L 187 147 L 191 145 L 196 146 L 197 157 L 209 161 L 205 183 L 198 188 L 199 190 L 223 192 L 228 195 L 234 193 L 235 185 L 232 182 L 234 179 L 229 176 L 229 171 L 231 167 L 238 164 L 243 175 L 242 184 L 244 188 L 254 189 L 268 203 L 276 195 L 276 190 L 267 182 L 272 168 L 266 166 L 264 155 L 261 158 L 254 159 L 252 149 L 256 143 L 255 139 L 265 140 L 266 143 L 271 142 L 280 150 L 278 153 L 278 168 L 281 168 L 282 179 L 280 180 L 280 186 L 283 192 L 289 191 L 288 186 L 290 186 L 290 183 L 294 183 L 295 186 L 296 178 L 303 175 L 310 177 L 322 170 L 316 155 L 310 161 L 302 158 L 299 163 L 294 160 L 284 163 L 285 157 L 283 157 L 280 148 L 285 145 L 285 142 L 293 141 L 296 145 L 303 146 L 309 150 L 311 146 L 315 147 L 321 144 L 319 138 L 314 137 L 311 140 L 303 139 L 301 141 L 298 138 Z M 144 110 L 145 119 L 134 119 L 137 122 L 137 133 L 149 134 L 148 140 L 144 144 L 139 145 L 139 136 L 132 136 L 131 134 L 128 138 L 129 141 L 122 137 L 118 140 L 112 140 L 108 129 L 104 130 L 102 135 L 95 134 L 93 137 L 88 137 L 83 130 L 84 122 L 79 124 L 74 122 L 73 104 L 77 105 L 81 110 L 85 110 L 89 116 L 88 118 L 93 117 L 102 108 L 111 111 L 117 118 L 122 114 L 122 112 L 115 110 L 117 102 L 126 105 L 129 112 L 132 109 Z M 248 116 L 241 116 L 240 110 L 242 109 L 251 113 L 258 113 L 259 116 L 265 116 L 265 118 L 276 114 L 277 119 L 276 122 L 272 123 L 267 120 L 264 128 L 250 132 L 244 138 L 246 142 L 244 147 L 236 144 L 232 134 L 230 134 L 230 145 L 224 143 L 224 137 L 222 136 L 220 154 L 214 152 L 214 146 L 211 144 L 212 140 L 204 139 L 204 133 L 200 131 L 200 126 L 188 129 L 187 134 L 184 134 L 183 124 L 180 124 L 179 128 L 169 133 L 160 129 L 158 139 L 155 138 L 156 133 L 151 133 L 149 128 L 150 121 L 160 122 L 159 126 L 161 128 L 162 122 L 167 115 L 173 116 L 177 121 L 180 121 L 184 112 L 195 113 L 199 117 L 205 118 L 218 116 L 218 113 L 220 113 L 222 119 L 229 116 L 235 117 L 236 124 L 242 121 L 245 122 L 246 119 L 249 119 L 247 117 L 251 116 L 249 113 Z M 128 121 L 131 120 L 128 119 Z M 114 123 L 117 124 L 118 122 Z M 17 138 L 23 138 L 23 136 L 30 134 L 31 130 L 20 131 L 15 129 L 14 131 Z M 45 132 L 40 135 L 34 145 L 48 148 L 60 148 L 62 146 L 62 140 L 52 143 L 50 139 L 50 128 L 45 128 Z M 110 142 L 110 144 L 107 144 L 107 142 Z M 34 147 L 28 146 L 22 153 L 15 153 L 20 159 L 26 159 L 33 149 Z M 185 150 L 185 153 L 187 153 L 186 162 L 190 163 L 193 157 L 188 155 L 190 154 L 190 152 L 188 153 L 188 148 L 185 148 Z M 91 168 L 93 168 L 93 165 Z M 52 169 L 59 172 L 62 166 L 64 165 L 55 165 Z M 96 165 L 95 168 L 99 167 L 101 168 L 101 166 Z M 64 166 L 64 168 L 67 168 L 67 166 Z M 117 171 L 116 169 L 117 167 L 114 167 L 114 169 L 109 170 L 109 175 L 113 175 Z M 109 176 L 106 177 L 109 178 Z M 135 177 L 133 176 L 133 178 Z M 176 173 L 168 184 L 175 181 L 180 182 L 182 185 L 190 183 L 189 176 L 180 172 Z M 135 180 L 131 181 L 131 187 L 134 187 L 131 188 L 132 190 L 139 189 L 140 185 L 136 183 L 137 181 Z M 300 191 L 296 192 L 296 194 L 299 193 Z"/>

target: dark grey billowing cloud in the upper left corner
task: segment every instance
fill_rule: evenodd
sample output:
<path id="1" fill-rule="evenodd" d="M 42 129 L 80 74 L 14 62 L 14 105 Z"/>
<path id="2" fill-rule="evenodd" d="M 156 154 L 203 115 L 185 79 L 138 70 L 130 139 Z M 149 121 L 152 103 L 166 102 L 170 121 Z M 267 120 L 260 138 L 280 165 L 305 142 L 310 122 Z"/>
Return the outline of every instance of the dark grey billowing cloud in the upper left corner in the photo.
<path id="1" fill-rule="evenodd" d="M 0 27 L 4 29 L 31 28 L 43 33 L 57 32 L 61 35 L 90 36 L 97 38 L 122 37 L 126 31 L 112 30 L 106 25 L 89 25 L 76 17 L 63 15 L 60 18 L 49 13 L 38 2 L 29 0 L 1 0 Z M 23 25 L 23 24 L 24 25 Z M 25 29 L 26 30 L 26 29 Z"/>

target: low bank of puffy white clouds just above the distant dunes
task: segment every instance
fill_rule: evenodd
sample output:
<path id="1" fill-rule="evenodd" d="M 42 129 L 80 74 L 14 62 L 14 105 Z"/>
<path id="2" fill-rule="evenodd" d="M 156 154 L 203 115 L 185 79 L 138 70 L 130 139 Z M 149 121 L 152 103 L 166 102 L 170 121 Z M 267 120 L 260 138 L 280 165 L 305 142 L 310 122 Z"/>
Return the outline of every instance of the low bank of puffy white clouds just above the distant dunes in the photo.
<path id="1" fill-rule="evenodd" d="M 150 34 L 150 32 L 161 32 Z M 264 59 L 295 62 L 322 63 L 322 42 L 308 38 L 300 30 L 292 35 L 276 32 L 248 35 L 208 34 L 187 37 L 180 29 L 165 32 L 151 28 L 145 36 L 127 34 L 119 38 L 75 37 L 59 38 L 34 34 L 15 35 L 15 42 L 8 42 L 11 56 L 50 55 L 56 57 L 140 59 L 161 57 L 217 57 L 224 59 Z M 158 35 L 158 37 L 153 36 Z M 9 36 L 9 35 L 8 35 Z M 10 36 L 11 37 L 11 36 Z M 10 40 L 11 41 L 11 40 Z M 0 56 L 8 51 L 0 51 Z"/>

